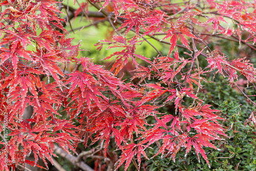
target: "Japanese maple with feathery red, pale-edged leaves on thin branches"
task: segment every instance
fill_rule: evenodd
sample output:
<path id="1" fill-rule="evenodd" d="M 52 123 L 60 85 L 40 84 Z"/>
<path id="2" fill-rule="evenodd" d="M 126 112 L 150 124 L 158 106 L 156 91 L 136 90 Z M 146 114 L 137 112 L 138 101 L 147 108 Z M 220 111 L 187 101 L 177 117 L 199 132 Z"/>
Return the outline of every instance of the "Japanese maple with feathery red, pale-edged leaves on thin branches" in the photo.
<path id="1" fill-rule="evenodd" d="M 2 136 L 0 142 L 1 170 L 24 168 L 25 163 L 48 168 L 47 160 L 53 163 L 56 156 L 55 146 L 76 154 L 79 143 L 85 147 L 102 144 L 106 158 L 111 141 L 121 154 L 114 169 L 124 164 L 127 170 L 133 162 L 139 170 L 142 157 L 158 154 L 179 160 L 176 154 L 181 150 L 186 155 L 194 151 L 210 167 L 204 147 L 218 150 L 212 140 L 221 142 L 227 135 L 221 111 L 198 96 L 202 83 L 209 74 L 221 74 L 231 86 L 237 86 L 236 81 L 243 77 L 247 86 L 256 88 L 256 69 L 247 58 L 231 60 L 208 44 L 218 37 L 255 51 L 256 2 L 75 3 L 80 8 L 67 8 L 53 0 L 0 3 L 0 131 L 8 130 L 8 137 Z M 60 8 L 68 12 L 66 19 L 60 17 Z M 95 45 L 99 50 L 116 49 L 112 55 L 102 56 L 114 60 L 110 71 L 95 65 L 90 56 L 78 56 L 80 45 L 72 45 L 72 38 L 67 37 L 65 26 L 78 15 L 101 17 L 95 22 L 113 27 L 113 40 L 102 39 Z M 160 52 L 148 38 L 167 44 L 168 52 Z M 158 55 L 138 54 L 136 48 L 142 42 Z M 199 57 L 208 63 L 206 67 L 200 65 Z M 135 67 L 129 71 L 131 80 L 117 77 L 130 61 Z M 76 63 L 75 69 L 67 71 L 68 63 Z M 256 104 L 237 88 L 248 103 Z M 174 111 L 160 112 L 172 104 Z M 32 113 L 25 116 L 28 108 Z M 149 156 L 146 149 L 154 144 L 158 152 Z M 26 159 L 30 155 L 34 161 Z M 37 164 L 39 158 L 45 166 Z"/>

